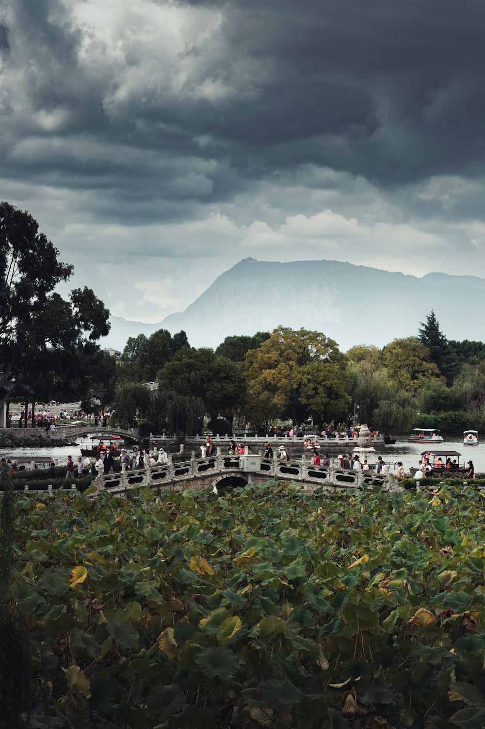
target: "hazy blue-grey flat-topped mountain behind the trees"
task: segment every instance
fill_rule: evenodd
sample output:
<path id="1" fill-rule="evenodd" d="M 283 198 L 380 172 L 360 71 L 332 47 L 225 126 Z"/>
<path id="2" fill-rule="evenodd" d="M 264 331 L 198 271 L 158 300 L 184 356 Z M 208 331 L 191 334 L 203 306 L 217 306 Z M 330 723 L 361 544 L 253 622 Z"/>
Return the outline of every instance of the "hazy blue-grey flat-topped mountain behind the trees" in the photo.
<path id="1" fill-rule="evenodd" d="M 324 332 L 345 351 L 354 344 L 381 347 L 416 335 L 431 309 L 447 338 L 483 339 L 485 279 L 445 273 L 416 278 L 338 261 L 247 258 L 222 273 L 184 312 L 160 324 L 113 316 L 104 343 L 123 349 L 128 336 L 149 336 L 163 327 L 172 334 L 185 330 L 192 346 L 217 347 L 228 335 L 282 324 Z"/>

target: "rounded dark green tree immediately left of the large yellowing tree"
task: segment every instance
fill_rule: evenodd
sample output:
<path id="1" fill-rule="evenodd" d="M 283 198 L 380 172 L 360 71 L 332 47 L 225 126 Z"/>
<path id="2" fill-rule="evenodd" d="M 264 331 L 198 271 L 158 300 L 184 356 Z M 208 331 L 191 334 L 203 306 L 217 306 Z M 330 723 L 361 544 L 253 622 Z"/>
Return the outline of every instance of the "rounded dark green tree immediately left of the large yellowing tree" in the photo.
<path id="1" fill-rule="evenodd" d="M 160 389 L 203 400 L 207 413 L 221 414 L 232 422 L 233 410 L 244 390 L 240 367 L 216 356 L 208 347 L 182 347 L 160 372 Z"/>

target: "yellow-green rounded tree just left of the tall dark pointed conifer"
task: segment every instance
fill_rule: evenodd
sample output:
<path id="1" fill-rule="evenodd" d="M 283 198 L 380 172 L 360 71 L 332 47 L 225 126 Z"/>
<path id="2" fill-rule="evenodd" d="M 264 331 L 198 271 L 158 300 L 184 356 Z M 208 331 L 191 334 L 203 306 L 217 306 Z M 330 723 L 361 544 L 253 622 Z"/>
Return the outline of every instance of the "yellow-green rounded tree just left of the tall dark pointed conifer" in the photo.
<path id="1" fill-rule="evenodd" d="M 437 365 L 431 362 L 430 350 L 417 337 L 393 340 L 384 347 L 382 359 L 391 383 L 411 394 L 418 389 L 421 378 L 440 375 Z"/>

